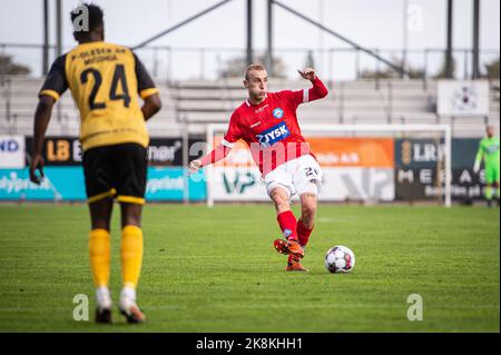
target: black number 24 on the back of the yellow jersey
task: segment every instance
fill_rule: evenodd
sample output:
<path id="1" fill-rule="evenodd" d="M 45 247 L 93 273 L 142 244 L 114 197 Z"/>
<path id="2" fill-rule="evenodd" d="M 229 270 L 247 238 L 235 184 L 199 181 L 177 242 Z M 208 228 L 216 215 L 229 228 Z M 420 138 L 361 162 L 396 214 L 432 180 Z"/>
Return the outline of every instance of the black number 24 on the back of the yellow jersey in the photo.
<path id="1" fill-rule="evenodd" d="M 105 102 L 96 102 L 96 96 L 99 91 L 99 87 L 102 83 L 101 73 L 95 68 L 88 68 L 84 70 L 80 75 L 80 82 L 87 83 L 89 76 L 94 77 L 94 87 L 90 90 L 89 95 L 89 107 L 91 110 L 104 109 L 106 108 Z M 117 93 L 118 83 L 121 83 L 122 93 Z M 127 79 L 125 76 L 125 69 L 122 65 L 117 65 L 115 67 L 114 78 L 111 80 L 111 87 L 109 89 L 109 99 L 110 100 L 124 100 L 124 106 L 129 107 L 130 96 L 129 89 L 127 87 Z"/>

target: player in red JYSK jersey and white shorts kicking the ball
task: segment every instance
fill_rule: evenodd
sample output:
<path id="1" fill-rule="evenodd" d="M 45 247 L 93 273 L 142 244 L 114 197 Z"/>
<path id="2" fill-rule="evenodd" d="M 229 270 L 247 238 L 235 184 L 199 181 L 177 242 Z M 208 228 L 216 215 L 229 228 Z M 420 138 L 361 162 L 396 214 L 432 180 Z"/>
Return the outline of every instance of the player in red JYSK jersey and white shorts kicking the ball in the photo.
<path id="1" fill-rule="evenodd" d="M 267 72 L 262 65 L 245 70 L 248 99 L 232 115 L 219 146 L 189 164 L 190 172 L 224 159 L 239 139 L 244 140 L 259 167 L 269 198 L 275 204 L 284 238 L 274 243 L 278 253 L 288 255 L 286 270 L 307 270 L 301 265 L 304 248 L 314 227 L 322 169 L 304 139 L 296 109 L 324 98 L 328 91 L 312 68 L 298 71 L 313 87 L 299 91 L 267 92 Z M 301 217 L 291 210 L 291 198 L 299 195 Z"/>

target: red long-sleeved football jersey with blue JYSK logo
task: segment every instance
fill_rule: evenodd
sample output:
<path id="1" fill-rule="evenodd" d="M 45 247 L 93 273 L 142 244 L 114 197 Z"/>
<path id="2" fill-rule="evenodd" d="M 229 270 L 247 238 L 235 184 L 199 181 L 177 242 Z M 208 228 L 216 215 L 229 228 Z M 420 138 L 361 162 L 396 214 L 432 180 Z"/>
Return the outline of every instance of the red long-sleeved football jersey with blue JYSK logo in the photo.
<path id="1" fill-rule="evenodd" d="M 247 99 L 233 112 L 222 144 L 230 148 L 239 139 L 247 142 L 263 176 L 288 160 L 313 155 L 301 132 L 296 110 L 301 103 L 323 98 L 327 92 L 316 78 L 311 89 L 268 92 L 259 105 Z"/>

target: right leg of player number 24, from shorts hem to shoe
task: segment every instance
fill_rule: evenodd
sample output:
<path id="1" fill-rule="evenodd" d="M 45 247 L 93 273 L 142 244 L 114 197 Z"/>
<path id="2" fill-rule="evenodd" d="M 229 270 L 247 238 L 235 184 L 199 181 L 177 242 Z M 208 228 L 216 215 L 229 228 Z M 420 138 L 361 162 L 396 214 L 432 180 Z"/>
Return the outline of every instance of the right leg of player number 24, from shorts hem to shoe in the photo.
<path id="1" fill-rule="evenodd" d="M 143 266 L 141 204 L 120 203 L 121 276 L 120 313 L 128 323 L 144 323 L 145 315 L 136 303 L 136 288 Z"/>

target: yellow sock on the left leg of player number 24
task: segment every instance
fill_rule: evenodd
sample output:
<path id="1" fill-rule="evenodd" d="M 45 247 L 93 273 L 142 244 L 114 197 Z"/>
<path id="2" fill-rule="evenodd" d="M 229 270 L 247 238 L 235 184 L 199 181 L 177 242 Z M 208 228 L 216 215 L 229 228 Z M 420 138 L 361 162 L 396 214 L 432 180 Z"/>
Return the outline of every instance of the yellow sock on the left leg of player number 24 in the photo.
<path id="1" fill-rule="evenodd" d="M 96 287 L 108 287 L 110 238 L 106 229 L 92 229 L 89 236 L 90 268 Z"/>

